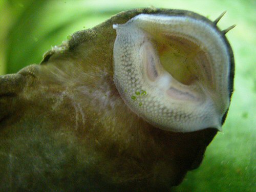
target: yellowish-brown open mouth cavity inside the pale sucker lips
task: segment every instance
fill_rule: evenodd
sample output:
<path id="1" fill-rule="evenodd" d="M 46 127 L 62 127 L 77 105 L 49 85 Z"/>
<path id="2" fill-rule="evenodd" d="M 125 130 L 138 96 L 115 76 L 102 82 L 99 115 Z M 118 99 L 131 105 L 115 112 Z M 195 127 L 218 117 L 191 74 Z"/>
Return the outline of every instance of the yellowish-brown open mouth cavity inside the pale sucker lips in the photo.
<path id="1" fill-rule="evenodd" d="M 174 79 L 189 86 L 200 80 L 211 82 L 210 59 L 194 39 L 162 34 L 153 40 L 161 66 Z"/>

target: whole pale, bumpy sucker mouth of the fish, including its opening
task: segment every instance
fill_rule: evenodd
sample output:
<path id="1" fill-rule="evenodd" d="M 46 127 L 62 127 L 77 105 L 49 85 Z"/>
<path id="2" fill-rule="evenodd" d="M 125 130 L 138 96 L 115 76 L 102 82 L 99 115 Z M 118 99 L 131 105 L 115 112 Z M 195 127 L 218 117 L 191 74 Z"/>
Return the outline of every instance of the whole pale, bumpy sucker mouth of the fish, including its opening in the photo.
<path id="1" fill-rule="evenodd" d="M 230 55 L 218 28 L 188 16 L 141 14 L 116 30 L 114 81 L 130 109 L 163 130 L 220 130 Z"/>

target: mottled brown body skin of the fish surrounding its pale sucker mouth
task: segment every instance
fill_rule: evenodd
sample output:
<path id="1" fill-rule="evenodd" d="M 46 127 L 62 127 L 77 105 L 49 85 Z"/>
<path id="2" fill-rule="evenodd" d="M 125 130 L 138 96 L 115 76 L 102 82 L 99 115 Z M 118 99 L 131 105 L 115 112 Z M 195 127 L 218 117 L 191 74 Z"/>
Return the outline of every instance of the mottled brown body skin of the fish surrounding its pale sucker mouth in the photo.
<path id="1" fill-rule="evenodd" d="M 168 191 L 200 165 L 217 130 L 162 131 L 127 108 L 113 82 L 112 25 L 159 12 L 200 17 L 122 12 L 75 33 L 41 65 L 0 77 L 1 191 Z M 233 67 L 230 96 L 232 79 Z"/>

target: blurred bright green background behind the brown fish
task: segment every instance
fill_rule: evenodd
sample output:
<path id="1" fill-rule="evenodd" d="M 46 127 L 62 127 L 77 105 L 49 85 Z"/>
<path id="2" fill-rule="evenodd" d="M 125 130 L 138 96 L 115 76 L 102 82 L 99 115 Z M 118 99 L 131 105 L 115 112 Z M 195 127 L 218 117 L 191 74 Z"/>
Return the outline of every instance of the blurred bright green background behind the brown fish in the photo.
<path id="1" fill-rule="evenodd" d="M 77 30 L 139 7 L 186 9 L 211 20 L 227 11 L 218 26 L 227 33 L 236 61 L 234 94 L 223 133 L 174 191 L 256 191 L 256 1 L 0 1 L 0 75 L 15 73 Z"/>

